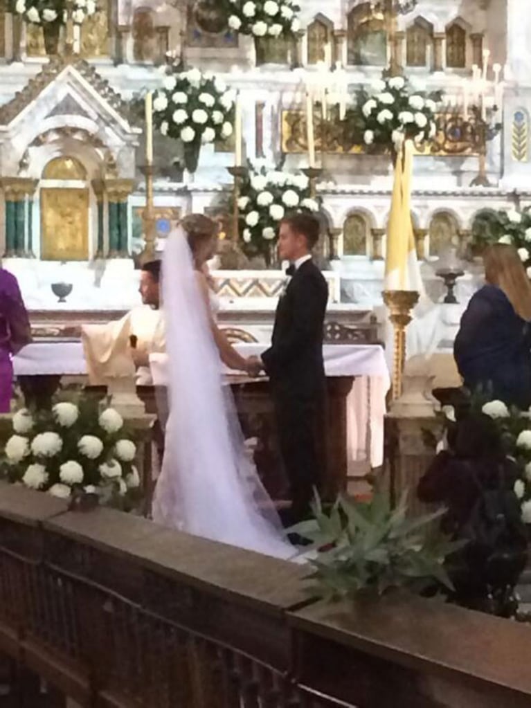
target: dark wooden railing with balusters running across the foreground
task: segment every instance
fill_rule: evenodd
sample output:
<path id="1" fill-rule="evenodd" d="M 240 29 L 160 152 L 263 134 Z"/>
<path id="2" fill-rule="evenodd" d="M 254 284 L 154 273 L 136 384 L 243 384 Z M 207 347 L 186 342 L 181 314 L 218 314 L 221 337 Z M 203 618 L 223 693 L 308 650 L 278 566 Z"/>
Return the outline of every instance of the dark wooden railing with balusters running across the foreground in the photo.
<path id="1" fill-rule="evenodd" d="M 407 595 L 324 605 L 305 573 L 0 485 L 0 652 L 21 705 L 40 705 L 38 675 L 54 705 L 98 708 L 530 706 L 529 627 Z"/>

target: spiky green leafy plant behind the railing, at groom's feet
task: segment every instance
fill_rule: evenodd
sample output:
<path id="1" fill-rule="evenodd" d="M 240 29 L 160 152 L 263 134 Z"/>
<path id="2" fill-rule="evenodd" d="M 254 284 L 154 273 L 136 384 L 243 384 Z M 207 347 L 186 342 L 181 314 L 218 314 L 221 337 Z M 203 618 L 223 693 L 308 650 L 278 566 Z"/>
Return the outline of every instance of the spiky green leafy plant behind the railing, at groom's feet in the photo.
<path id="1" fill-rule="evenodd" d="M 314 519 L 293 529 L 314 544 L 309 593 L 336 600 L 365 589 L 379 595 L 391 588 L 452 590 L 443 564 L 463 544 L 450 542 L 438 530 L 436 522 L 445 510 L 408 518 L 407 508 L 406 493 L 394 509 L 380 492 L 370 502 L 343 496 L 328 511 L 317 498 Z"/>

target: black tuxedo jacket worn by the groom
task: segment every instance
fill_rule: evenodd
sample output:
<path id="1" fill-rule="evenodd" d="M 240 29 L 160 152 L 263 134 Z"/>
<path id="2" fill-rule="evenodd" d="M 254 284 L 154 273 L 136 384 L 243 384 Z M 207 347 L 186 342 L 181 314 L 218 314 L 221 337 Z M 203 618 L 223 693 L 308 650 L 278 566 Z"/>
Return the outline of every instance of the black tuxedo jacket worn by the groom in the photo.
<path id="1" fill-rule="evenodd" d="M 262 355 L 278 394 L 315 396 L 324 390 L 323 329 L 328 285 L 313 261 L 297 268 L 280 297 L 271 347 Z"/>

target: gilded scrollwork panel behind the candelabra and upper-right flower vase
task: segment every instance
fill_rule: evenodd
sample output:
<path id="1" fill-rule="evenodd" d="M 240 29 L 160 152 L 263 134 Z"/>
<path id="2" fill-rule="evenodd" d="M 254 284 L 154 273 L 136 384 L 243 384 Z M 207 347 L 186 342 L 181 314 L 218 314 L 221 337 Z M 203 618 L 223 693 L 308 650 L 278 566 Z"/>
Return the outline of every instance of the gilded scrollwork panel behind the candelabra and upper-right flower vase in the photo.
<path id="1" fill-rule="evenodd" d="M 438 131 L 432 144 L 416 147 L 418 155 L 466 156 L 477 154 L 473 126 L 456 113 L 438 115 Z M 349 135 L 348 122 L 324 121 L 320 110 L 314 113 L 315 149 L 326 154 L 364 154 L 365 146 Z M 289 108 L 282 111 L 282 152 L 308 152 L 307 120 L 304 110 Z"/>

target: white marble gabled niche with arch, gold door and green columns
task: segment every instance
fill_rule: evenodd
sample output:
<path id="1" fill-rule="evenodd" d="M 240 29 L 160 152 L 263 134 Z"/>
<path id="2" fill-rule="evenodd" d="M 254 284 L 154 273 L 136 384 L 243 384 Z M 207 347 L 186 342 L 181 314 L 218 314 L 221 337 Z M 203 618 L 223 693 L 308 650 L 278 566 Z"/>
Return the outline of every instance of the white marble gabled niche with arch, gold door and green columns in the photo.
<path id="1" fill-rule="evenodd" d="M 64 231 L 65 224 L 72 222 L 72 234 L 80 228 L 74 219 L 76 209 L 86 210 L 86 223 L 82 224 L 86 246 L 73 248 L 72 258 L 126 256 L 127 198 L 134 187 L 139 132 L 130 120 L 129 106 L 88 64 L 48 64 L 0 108 L 6 252 L 38 255 L 45 230 L 52 223 L 51 211 L 45 210 L 52 210 L 55 204 L 57 212 L 64 212 L 57 229 Z M 79 161 L 86 178 L 74 183 L 43 181 L 46 165 L 62 158 Z M 59 251 L 52 257 L 59 258 Z"/>

